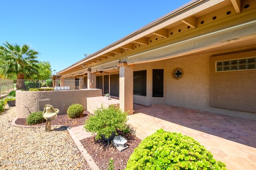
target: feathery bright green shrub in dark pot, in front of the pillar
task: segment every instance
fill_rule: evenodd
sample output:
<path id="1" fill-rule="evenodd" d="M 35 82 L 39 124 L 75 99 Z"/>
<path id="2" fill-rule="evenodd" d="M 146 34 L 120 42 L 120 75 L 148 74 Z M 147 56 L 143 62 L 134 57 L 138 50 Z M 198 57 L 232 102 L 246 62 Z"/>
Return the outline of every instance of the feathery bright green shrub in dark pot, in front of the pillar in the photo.
<path id="1" fill-rule="evenodd" d="M 125 129 L 127 120 L 127 112 L 114 108 L 114 106 L 102 106 L 102 109 L 94 110 L 94 115 L 90 115 L 84 122 L 84 129 L 92 132 L 93 135 L 97 133 L 95 139 L 101 139 L 101 135 L 109 138 L 113 131 L 116 133 L 116 129 Z"/>

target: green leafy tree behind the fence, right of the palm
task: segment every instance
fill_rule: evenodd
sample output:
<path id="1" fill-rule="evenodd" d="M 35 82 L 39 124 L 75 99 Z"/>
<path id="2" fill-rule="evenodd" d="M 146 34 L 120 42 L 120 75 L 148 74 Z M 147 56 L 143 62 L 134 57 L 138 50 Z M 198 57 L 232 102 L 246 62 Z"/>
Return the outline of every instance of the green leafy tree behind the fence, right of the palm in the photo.
<path id="1" fill-rule="evenodd" d="M 51 78 L 52 68 L 49 61 L 40 61 L 37 65 L 38 74 L 32 76 L 33 80 L 47 80 Z"/>

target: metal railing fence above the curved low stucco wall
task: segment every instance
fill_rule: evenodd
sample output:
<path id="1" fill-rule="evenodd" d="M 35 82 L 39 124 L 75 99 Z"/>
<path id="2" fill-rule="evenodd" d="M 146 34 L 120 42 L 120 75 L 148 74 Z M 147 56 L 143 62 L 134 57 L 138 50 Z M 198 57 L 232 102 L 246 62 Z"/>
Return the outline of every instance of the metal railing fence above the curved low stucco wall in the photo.
<path id="1" fill-rule="evenodd" d="M 54 88 L 60 86 L 69 86 L 70 90 L 80 89 L 80 80 L 16 80 L 17 89 L 28 91 L 30 88 Z"/>

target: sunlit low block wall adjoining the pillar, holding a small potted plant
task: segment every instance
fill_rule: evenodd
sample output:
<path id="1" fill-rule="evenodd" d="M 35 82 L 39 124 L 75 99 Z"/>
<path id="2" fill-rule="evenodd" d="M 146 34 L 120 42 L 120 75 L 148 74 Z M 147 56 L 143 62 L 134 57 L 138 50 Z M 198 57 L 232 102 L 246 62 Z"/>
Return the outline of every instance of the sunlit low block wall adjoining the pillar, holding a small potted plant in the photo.
<path id="1" fill-rule="evenodd" d="M 101 105 L 103 105 L 103 107 L 114 105 L 114 107 L 119 108 L 119 100 L 105 100 L 103 96 L 87 98 L 87 111 L 90 113 L 93 113 L 93 111 L 97 108 L 101 108 Z"/>

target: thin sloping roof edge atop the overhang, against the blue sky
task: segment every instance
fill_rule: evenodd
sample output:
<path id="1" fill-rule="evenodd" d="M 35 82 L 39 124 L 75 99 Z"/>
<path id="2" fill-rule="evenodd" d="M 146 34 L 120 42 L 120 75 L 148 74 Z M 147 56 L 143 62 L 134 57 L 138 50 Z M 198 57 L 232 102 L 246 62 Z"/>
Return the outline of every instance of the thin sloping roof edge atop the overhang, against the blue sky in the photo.
<path id="1" fill-rule="evenodd" d="M 152 27 L 153 25 L 159 23 L 160 21 L 166 20 L 167 18 L 170 18 L 170 17 L 172 17 L 172 16 L 182 12 L 183 10 L 186 10 L 190 6 L 194 6 L 194 5 L 196 5 L 196 4 L 198 4 L 198 3 L 202 2 L 202 1 L 205 1 L 205 0 L 191 0 L 190 2 L 180 6 L 179 8 L 176 8 L 175 10 L 172 10 L 171 12 L 165 14 L 164 16 L 162 16 L 162 17 L 160 17 L 160 18 L 158 18 L 158 19 L 148 23 L 147 25 L 137 29 L 136 31 L 126 35 L 125 37 L 122 37 L 121 39 L 115 41 L 114 43 L 111 43 L 110 45 L 107 45 L 106 47 L 96 51 L 92 55 L 89 55 L 88 57 L 85 57 L 85 58 L 81 59 L 80 61 L 77 61 L 76 63 L 72 64 L 71 66 L 68 66 L 67 68 L 64 68 L 63 70 L 61 70 L 59 72 L 56 72 L 56 74 L 60 73 L 60 72 L 63 72 L 64 70 L 66 70 L 66 69 L 68 69 L 68 68 L 70 68 L 70 67 L 72 67 L 72 66 L 74 66 L 74 65 L 76 65 L 76 64 L 78 64 L 78 63 L 80 63 L 80 62 L 82 62 L 84 60 L 86 60 L 86 59 L 90 59 L 90 58 L 94 57 L 94 55 L 96 55 L 96 54 L 98 54 L 98 53 L 100 53 L 100 52 L 102 52 L 102 51 L 112 47 L 113 45 L 116 45 L 117 43 L 120 43 L 121 41 L 124 41 L 125 39 L 128 39 L 129 37 L 132 37 L 133 35 L 136 35 L 139 32 L 141 32 L 141 31 L 143 31 L 145 29 L 148 29 L 149 27 Z"/>

